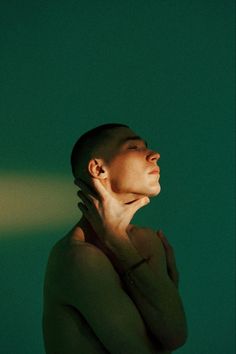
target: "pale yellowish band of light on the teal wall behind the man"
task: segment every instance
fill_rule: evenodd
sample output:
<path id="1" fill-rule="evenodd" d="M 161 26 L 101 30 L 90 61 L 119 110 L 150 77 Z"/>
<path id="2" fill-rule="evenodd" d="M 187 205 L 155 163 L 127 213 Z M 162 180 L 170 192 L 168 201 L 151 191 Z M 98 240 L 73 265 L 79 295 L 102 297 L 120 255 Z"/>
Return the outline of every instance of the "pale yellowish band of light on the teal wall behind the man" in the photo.
<path id="1" fill-rule="evenodd" d="M 71 176 L 0 174 L 0 237 L 77 222 L 76 187 Z"/>

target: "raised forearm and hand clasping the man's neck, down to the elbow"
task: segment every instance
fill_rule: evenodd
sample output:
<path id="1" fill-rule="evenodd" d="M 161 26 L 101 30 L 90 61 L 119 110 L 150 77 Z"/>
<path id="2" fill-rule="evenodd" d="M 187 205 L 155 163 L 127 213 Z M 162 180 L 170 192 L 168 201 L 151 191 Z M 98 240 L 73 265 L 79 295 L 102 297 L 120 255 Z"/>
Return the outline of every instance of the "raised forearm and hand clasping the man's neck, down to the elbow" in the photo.
<path id="1" fill-rule="evenodd" d="M 79 208 L 96 230 L 101 242 L 115 255 L 121 271 L 126 270 L 143 257 L 130 241 L 128 233 L 130 230 L 132 232 L 132 228 L 129 223 L 134 213 L 146 205 L 149 199 L 142 197 L 128 205 L 123 204 L 112 197 L 100 181 L 94 179 L 93 183 L 96 194 L 82 181 L 78 184 L 83 189 L 78 195 L 84 202 L 79 203 Z M 146 235 L 143 236 L 146 238 Z M 150 260 L 153 266 L 142 264 L 135 269 L 132 272 L 135 286 L 127 286 L 148 329 L 162 348 L 172 350 L 185 342 L 186 321 L 180 296 L 168 276 L 165 252 L 157 242 L 153 244 L 156 256 Z M 162 254 L 158 257 L 161 249 Z M 155 265 L 154 260 L 159 262 Z"/>

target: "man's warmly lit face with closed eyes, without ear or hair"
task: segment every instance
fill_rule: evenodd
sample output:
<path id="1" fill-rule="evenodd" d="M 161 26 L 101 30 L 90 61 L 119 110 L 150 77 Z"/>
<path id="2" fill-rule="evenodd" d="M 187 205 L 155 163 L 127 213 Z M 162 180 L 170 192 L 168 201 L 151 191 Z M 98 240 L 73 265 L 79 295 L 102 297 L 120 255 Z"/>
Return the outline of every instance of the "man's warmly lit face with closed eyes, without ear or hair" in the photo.
<path id="1" fill-rule="evenodd" d="M 128 128 L 116 129 L 111 145 L 113 157 L 108 165 L 111 188 L 115 193 L 155 196 L 160 193 L 157 160 L 160 155 Z"/>

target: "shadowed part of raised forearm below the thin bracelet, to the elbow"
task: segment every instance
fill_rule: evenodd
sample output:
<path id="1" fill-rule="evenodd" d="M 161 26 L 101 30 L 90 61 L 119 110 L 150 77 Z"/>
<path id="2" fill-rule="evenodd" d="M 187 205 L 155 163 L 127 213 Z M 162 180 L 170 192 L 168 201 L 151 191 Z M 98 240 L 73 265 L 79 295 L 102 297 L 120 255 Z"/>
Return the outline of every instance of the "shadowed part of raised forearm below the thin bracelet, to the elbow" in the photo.
<path id="1" fill-rule="evenodd" d="M 141 268 L 142 273 L 141 273 Z M 169 281 L 159 286 L 145 266 L 132 272 L 125 280 L 127 291 L 140 311 L 148 330 L 163 349 L 174 350 L 186 340 L 186 320 L 178 291 Z M 155 279 L 152 279 L 155 278 Z"/>

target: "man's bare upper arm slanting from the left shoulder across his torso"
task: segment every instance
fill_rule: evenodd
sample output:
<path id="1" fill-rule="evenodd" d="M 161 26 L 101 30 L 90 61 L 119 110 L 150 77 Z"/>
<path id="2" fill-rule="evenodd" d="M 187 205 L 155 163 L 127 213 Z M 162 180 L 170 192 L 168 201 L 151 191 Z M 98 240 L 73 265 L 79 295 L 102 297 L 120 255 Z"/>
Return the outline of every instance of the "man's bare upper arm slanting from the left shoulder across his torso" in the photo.
<path id="1" fill-rule="evenodd" d="M 70 255 L 67 266 L 63 301 L 80 311 L 110 353 L 166 353 L 155 349 L 139 312 L 101 251 L 82 245 Z"/>

